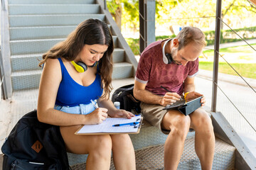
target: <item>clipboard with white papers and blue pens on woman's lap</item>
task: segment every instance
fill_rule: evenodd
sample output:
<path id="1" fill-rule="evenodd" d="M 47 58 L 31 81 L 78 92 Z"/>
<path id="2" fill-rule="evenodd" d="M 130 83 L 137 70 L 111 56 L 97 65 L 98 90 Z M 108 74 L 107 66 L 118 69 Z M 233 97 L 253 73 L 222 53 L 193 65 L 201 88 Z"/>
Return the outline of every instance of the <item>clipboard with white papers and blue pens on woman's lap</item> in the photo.
<path id="1" fill-rule="evenodd" d="M 75 132 L 75 135 L 114 135 L 121 133 L 137 134 L 142 128 L 142 115 L 137 115 L 131 119 L 127 118 L 107 118 L 103 123 L 97 125 L 81 125 L 81 127 Z M 114 127 L 113 125 L 123 123 L 139 122 L 137 125 L 122 125 Z"/>

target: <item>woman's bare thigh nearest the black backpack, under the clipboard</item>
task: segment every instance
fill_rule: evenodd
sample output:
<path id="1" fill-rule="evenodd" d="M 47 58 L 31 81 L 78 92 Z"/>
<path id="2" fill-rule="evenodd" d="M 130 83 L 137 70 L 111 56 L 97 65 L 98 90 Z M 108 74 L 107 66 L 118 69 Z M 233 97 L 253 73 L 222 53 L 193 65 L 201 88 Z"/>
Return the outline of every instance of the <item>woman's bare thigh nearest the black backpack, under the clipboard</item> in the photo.
<path id="1" fill-rule="evenodd" d="M 80 128 L 80 125 L 60 127 L 60 133 L 68 152 L 88 154 L 97 149 L 111 151 L 112 140 L 110 135 L 75 135 L 78 128 Z"/>

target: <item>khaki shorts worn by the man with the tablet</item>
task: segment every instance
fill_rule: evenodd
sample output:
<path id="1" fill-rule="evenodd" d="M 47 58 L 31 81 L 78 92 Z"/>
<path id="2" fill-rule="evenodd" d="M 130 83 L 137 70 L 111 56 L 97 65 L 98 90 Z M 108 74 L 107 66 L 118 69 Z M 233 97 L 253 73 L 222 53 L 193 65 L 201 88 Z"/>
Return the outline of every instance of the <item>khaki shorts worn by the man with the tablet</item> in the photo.
<path id="1" fill-rule="evenodd" d="M 154 125 L 156 128 L 159 128 L 161 132 L 168 135 L 170 130 L 164 130 L 161 127 L 164 115 L 167 113 L 167 110 L 163 110 L 164 106 L 144 102 L 141 102 L 140 106 L 142 108 L 143 117 L 148 120 L 151 125 Z"/>

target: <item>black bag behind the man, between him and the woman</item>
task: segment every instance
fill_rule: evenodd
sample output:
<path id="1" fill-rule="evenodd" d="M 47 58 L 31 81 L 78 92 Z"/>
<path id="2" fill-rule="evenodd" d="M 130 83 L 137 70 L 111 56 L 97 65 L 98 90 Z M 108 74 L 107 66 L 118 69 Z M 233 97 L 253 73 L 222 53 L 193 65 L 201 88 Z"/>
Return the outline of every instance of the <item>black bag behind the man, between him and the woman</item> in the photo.
<path id="1" fill-rule="evenodd" d="M 120 108 L 126 111 L 136 111 L 141 113 L 141 108 L 139 106 L 140 101 L 134 98 L 133 95 L 134 84 L 129 84 L 127 86 L 122 86 L 114 91 L 112 95 L 112 102 L 119 101 Z"/>

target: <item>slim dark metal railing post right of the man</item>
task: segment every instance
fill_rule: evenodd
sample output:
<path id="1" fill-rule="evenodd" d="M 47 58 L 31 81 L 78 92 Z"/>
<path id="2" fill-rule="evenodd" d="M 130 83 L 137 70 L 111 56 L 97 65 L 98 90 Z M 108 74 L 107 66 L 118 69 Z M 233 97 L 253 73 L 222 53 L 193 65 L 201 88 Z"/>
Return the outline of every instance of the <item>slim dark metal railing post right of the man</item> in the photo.
<path id="1" fill-rule="evenodd" d="M 220 50 L 220 18 L 221 18 L 221 0 L 216 4 L 216 23 L 215 23 L 215 42 L 214 42 L 214 61 L 213 61 L 213 94 L 211 111 L 216 112 L 217 103 L 217 85 L 218 85 L 218 58 Z"/>

